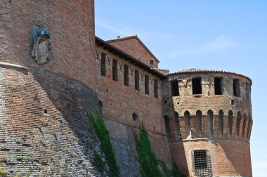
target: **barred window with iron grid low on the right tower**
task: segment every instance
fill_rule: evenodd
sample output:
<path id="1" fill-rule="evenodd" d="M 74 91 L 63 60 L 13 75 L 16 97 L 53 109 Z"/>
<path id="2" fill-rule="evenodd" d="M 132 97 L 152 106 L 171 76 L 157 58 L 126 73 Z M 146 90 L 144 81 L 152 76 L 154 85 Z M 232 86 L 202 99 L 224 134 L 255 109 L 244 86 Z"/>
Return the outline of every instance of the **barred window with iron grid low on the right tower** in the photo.
<path id="1" fill-rule="evenodd" d="M 207 169 L 207 150 L 194 150 L 194 169 Z"/>

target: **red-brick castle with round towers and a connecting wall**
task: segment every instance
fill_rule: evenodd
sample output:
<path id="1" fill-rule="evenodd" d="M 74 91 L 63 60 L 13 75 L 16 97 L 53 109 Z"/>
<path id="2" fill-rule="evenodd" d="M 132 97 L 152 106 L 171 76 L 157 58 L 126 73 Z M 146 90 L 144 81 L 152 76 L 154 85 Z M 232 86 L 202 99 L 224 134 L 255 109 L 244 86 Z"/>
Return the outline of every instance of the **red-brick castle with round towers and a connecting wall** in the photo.
<path id="1" fill-rule="evenodd" d="M 121 176 L 140 176 L 133 129 L 190 176 L 252 176 L 252 80 L 169 73 L 137 37 L 95 37 L 94 1 L 0 1 L 0 168 L 93 176 L 85 110 L 100 109 Z"/>

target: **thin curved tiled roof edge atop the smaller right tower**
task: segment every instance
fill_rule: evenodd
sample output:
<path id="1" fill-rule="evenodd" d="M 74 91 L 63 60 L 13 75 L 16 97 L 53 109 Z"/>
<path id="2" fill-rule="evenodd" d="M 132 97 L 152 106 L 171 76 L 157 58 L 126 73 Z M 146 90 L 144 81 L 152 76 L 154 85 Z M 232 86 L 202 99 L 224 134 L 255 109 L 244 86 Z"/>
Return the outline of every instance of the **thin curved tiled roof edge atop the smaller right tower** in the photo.
<path id="1" fill-rule="evenodd" d="M 245 77 L 246 79 L 248 79 L 250 81 L 250 84 L 252 85 L 252 79 L 250 79 L 249 77 L 247 77 L 243 74 L 236 73 L 236 72 L 228 72 L 228 71 L 223 71 L 223 70 L 204 70 L 204 69 L 191 68 L 191 69 L 181 70 L 181 71 L 177 71 L 177 72 L 172 72 L 172 73 L 169 73 L 166 75 L 169 76 L 169 75 L 175 75 L 175 74 L 187 74 L 187 73 L 195 73 L 195 72 L 234 74 L 237 76 Z"/>

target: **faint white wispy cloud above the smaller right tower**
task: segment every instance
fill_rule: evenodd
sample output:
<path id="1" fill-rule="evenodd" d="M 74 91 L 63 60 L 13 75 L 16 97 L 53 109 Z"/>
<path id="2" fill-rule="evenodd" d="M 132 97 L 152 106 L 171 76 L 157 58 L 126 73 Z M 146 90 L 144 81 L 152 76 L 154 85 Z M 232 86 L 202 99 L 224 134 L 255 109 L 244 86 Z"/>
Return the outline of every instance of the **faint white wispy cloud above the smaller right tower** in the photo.
<path id="1" fill-rule="evenodd" d="M 183 46 L 176 48 L 171 57 L 184 57 L 188 55 L 198 55 L 203 53 L 213 53 L 226 51 L 230 48 L 235 48 L 237 42 L 226 34 L 219 34 L 217 37 L 211 37 L 197 46 Z"/>

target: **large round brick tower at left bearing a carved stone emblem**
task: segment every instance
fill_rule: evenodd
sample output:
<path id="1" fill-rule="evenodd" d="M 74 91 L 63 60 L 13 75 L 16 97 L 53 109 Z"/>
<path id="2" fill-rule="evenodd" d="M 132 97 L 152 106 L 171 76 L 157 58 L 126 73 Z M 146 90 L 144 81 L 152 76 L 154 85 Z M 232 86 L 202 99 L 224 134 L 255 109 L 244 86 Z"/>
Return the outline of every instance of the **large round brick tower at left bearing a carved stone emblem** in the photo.
<path id="1" fill-rule="evenodd" d="M 0 169 L 89 176 L 94 1 L 0 1 Z"/>

